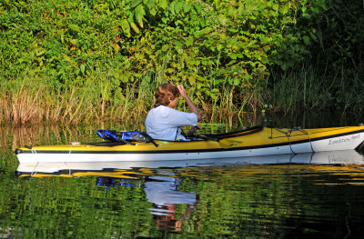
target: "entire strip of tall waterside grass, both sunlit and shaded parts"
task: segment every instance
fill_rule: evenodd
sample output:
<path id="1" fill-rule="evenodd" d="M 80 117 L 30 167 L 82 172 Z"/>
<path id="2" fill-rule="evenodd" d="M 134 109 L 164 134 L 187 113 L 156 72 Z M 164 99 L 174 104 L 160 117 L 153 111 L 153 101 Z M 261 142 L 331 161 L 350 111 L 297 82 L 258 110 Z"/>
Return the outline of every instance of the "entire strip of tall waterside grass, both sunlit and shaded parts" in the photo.
<path id="1" fill-rule="evenodd" d="M 328 72 L 328 74 L 325 74 Z M 159 75 L 159 76 L 158 76 Z M 334 75 L 334 76 L 328 76 Z M 238 92 L 235 85 L 226 83 L 210 101 L 204 101 L 191 87 L 188 90 L 204 115 L 205 123 L 227 123 L 246 110 L 257 113 L 264 105 L 275 112 L 305 110 L 349 109 L 362 112 L 364 69 L 340 67 L 322 71 L 308 63 L 295 69 L 271 72 L 271 88 Z M 51 76 L 26 72 L 14 80 L 2 80 L 0 94 L 0 123 L 11 124 L 93 124 L 120 122 L 142 125 L 154 104 L 154 91 L 164 82 L 163 72 L 147 72 L 134 82 L 120 85 L 110 70 L 94 71 L 82 84 L 59 86 L 48 81 Z M 239 104 L 237 102 L 240 101 Z M 177 106 L 188 111 L 183 101 Z"/>

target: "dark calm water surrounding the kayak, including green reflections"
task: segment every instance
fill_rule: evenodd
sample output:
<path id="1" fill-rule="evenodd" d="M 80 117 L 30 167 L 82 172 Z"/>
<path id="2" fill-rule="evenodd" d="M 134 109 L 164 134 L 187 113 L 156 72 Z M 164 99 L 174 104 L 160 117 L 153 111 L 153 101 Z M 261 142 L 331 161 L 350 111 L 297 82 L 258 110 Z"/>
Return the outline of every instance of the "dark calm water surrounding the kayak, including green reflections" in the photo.
<path id="1" fill-rule="evenodd" d="M 203 130 L 357 121 L 334 114 L 263 115 L 245 124 L 204 124 Z M 364 238 L 362 152 L 26 167 L 12 151 L 24 144 L 95 141 L 101 127 L 120 125 L 2 127 L 0 238 Z"/>

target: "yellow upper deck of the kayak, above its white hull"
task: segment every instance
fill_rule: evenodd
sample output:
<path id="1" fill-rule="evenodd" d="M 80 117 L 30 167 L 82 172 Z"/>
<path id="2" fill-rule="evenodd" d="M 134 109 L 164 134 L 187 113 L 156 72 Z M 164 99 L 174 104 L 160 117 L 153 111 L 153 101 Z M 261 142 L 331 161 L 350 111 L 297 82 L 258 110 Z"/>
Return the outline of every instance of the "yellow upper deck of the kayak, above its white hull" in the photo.
<path id="1" fill-rule="evenodd" d="M 183 150 L 208 150 L 208 149 L 223 149 L 234 147 L 255 147 L 259 145 L 268 144 L 287 144 L 290 142 L 315 140 L 322 137 L 337 136 L 340 134 L 349 134 L 358 131 L 364 131 L 364 126 L 345 126 L 345 127 L 332 127 L 332 128 L 317 128 L 317 129 L 303 129 L 290 132 L 290 129 L 271 129 L 265 127 L 262 131 L 253 134 L 245 134 L 221 139 L 219 142 L 212 140 L 200 140 L 190 142 L 168 142 L 156 140 L 159 144 L 156 147 L 151 143 L 136 143 L 136 145 L 124 144 L 116 146 L 96 146 L 91 144 L 76 144 L 76 145 L 48 145 L 48 146 L 35 146 L 33 149 L 36 151 L 68 151 L 72 152 L 102 152 L 102 151 L 123 151 L 123 152 L 136 152 L 136 151 L 183 151 Z M 31 151 L 28 148 L 21 148 L 24 152 Z"/>

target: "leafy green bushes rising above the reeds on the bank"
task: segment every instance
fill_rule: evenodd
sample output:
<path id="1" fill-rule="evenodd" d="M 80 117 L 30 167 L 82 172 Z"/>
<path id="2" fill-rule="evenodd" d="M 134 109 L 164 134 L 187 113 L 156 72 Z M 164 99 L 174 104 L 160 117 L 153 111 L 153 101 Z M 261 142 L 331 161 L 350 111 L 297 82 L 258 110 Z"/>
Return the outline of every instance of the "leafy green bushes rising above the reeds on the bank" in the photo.
<path id="1" fill-rule="evenodd" d="M 361 10 L 334 0 L 1 0 L 0 78 L 12 88 L 25 72 L 38 75 L 54 95 L 102 85 L 91 92 L 99 115 L 130 104 L 126 95 L 142 98 L 136 112 L 146 113 L 153 95 L 143 93 L 162 82 L 186 85 L 209 112 L 256 110 L 279 97 L 268 90 L 272 72 L 359 67 L 362 20 L 349 23 Z"/>

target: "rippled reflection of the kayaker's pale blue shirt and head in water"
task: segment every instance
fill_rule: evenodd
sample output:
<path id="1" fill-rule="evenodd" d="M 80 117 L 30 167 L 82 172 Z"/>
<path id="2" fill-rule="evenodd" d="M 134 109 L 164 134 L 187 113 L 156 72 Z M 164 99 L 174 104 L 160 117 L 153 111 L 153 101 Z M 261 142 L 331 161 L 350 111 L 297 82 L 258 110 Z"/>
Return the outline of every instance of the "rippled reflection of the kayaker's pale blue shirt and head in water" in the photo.
<path id="1" fill-rule="evenodd" d="M 196 194 L 177 191 L 180 183 L 178 178 L 151 176 L 149 179 L 152 181 L 146 183 L 144 190 L 147 200 L 154 205 L 150 211 L 156 219 L 158 229 L 180 231 L 187 215 L 194 209 Z M 187 209 L 180 218 L 176 218 L 177 204 L 187 204 Z"/>

